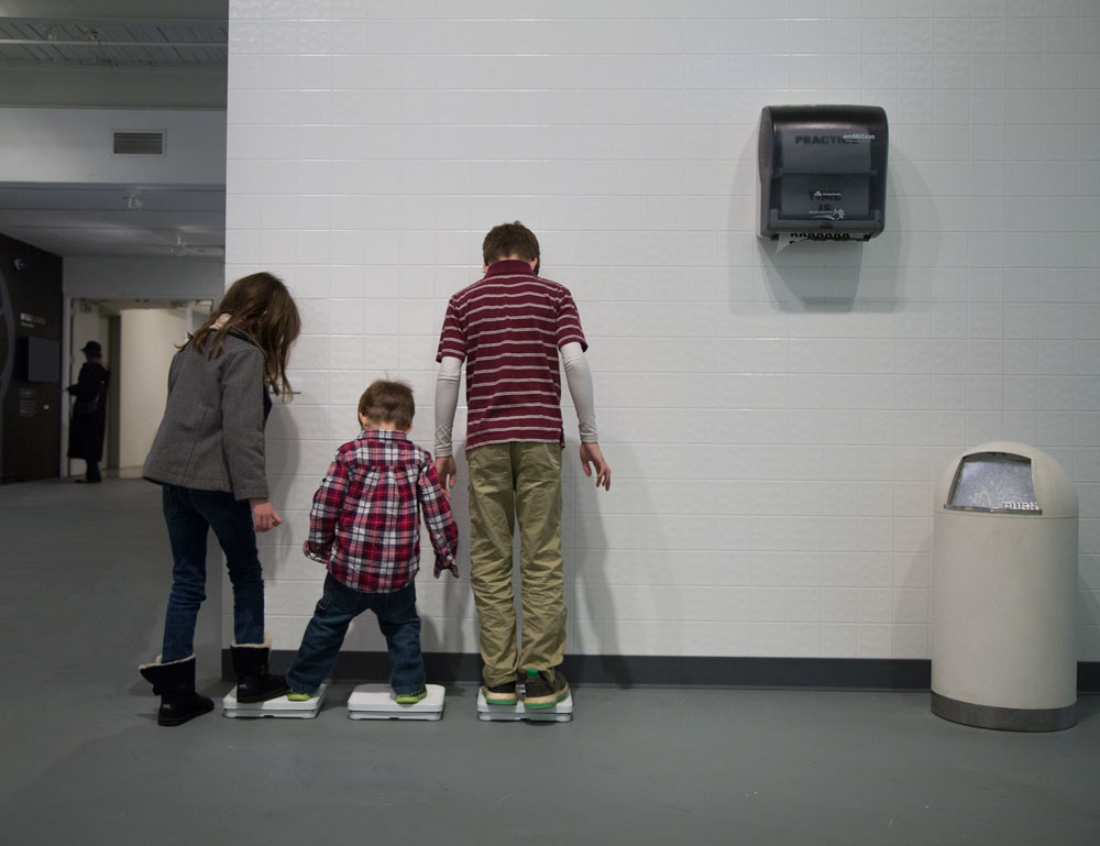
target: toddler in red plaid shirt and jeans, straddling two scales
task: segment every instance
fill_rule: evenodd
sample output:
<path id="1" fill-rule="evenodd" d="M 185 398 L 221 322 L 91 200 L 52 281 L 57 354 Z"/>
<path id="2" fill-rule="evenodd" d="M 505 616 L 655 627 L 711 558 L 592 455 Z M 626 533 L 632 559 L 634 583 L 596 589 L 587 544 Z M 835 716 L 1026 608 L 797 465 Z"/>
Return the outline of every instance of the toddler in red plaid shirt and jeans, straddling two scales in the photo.
<path id="1" fill-rule="evenodd" d="M 437 579 L 443 570 L 458 578 L 459 532 L 431 455 L 408 439 L 415 410 L 408 385 L 374 382 L 359 400 L 363 430 L 337 450 L 314 495 L 302 551 L 329 572 L 286 674 L 293 702 L 316 694 L 336 663 L 348 626 L 367 609 L 386 638 L 397 702 L 409 705 L 428 695 L 414 582 L 420 510 L 436 550 Z"/>

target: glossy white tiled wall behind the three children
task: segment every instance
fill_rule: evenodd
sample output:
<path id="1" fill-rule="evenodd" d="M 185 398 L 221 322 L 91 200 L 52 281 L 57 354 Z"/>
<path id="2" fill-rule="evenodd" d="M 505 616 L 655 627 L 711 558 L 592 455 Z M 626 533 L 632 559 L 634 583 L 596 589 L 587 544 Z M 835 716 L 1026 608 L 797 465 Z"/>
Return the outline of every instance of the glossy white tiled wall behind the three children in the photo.
<path id="1" fill-rule="evenodd" d="M 279 647 L 319 595 L 299 546 L 359 394 L 411 382 L 430 446 L 447 298 L 518 218 L 580 305 L 614 469 L 594 492 L 569 421 L 572 651 L 925 658 L 934 483 L 1009 438 L 1078 484 L 1078 651 L 1100 660 L 1100 4 L 231 0 L 230 19 L 228 274 L 282 274 L 305 317 L 301 394 L 268 432 Z M 757 239 L 759 111 L 794 102 L 886 108 L 882 237 Z M 427 649 L 476 651 L 469 590 L 421 576 Z M 373 623 L 348 646 L 380 648 Z"/>

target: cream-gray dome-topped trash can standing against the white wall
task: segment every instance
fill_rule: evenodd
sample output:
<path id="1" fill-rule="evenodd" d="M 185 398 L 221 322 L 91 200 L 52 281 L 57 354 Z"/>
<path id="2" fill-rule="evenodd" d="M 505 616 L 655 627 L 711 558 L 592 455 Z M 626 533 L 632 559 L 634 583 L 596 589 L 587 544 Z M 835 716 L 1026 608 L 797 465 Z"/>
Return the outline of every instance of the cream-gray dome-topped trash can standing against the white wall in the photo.
<path id="1" fill-rule="evenodd" d="M 983 443 L 947 468 L 932 548 L 932 711 L 1050 732 L 1077 722 L 1077 492 L 1023 443 Z"/>

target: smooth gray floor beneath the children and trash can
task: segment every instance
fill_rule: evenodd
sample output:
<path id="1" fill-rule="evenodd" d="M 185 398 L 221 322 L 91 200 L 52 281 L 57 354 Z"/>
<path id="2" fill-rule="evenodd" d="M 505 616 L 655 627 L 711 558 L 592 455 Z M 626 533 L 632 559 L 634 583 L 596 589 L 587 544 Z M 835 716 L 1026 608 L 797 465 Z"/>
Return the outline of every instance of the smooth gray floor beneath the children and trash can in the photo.
<path id="1" fill-rule="evenodd" d="M 1100 701 L 1043 735 L 927 694 L 575 691 L 568 725 L 216 714 L 155 725 L 156 488 L 0 487 L 0 843 L 1100 843 Z M 206 668 L 213 675 L 213 668 Z M 228 685 L 212 679 L 207 693 Z"/>

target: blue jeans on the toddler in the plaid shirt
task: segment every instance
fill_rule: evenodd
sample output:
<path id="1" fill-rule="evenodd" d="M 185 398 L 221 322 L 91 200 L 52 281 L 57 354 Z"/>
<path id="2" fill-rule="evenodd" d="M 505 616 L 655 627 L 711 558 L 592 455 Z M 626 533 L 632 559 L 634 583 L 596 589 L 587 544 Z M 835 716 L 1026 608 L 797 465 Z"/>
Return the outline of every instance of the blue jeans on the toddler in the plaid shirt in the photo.
<path id="1" fill-rule="evenodd" d="M 420 655 L 420 617 L 416 613 L 416 583 L 393 593 L 362 593 L 331 573 L 324 576 L 324 593 L 314 618 L 301 636 L 301 646 L 286 683 L 298 693 L 315 693 L 331 672 L 348 634 L 348 626 L 364 611 L 373 611 L 389 650 L 389 686 L 398 696 L 424 688 Z"/>

